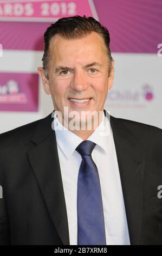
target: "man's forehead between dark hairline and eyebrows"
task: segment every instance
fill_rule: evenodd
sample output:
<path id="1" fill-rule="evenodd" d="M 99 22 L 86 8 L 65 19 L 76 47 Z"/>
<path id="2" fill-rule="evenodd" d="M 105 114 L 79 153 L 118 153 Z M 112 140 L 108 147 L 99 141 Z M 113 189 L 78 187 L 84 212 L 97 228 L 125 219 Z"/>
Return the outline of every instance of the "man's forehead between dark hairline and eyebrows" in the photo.
<path id="1" fill-rule="evenodd" d="M 65 39 L 61 35 L 55 35 L 51 39 L 50 55 L 57 57 L 81 56 L 81 54 L 103 54 L 106 51 L 105 42 L 101 35 L 91 32 L 81 38 Z"/>

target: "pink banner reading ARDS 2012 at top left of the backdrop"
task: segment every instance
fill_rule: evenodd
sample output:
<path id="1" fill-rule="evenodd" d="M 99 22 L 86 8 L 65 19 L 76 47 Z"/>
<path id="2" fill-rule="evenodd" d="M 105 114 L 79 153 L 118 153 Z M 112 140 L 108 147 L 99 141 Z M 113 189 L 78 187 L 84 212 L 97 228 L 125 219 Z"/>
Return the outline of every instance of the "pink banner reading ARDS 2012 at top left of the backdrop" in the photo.
<path id="1" fill-rule="evenodd" d="M 93 0 L 0 1 L 0 20 L 2 21 L 54 22 L 61 17 L 83 14 L 99 20 Z"/>

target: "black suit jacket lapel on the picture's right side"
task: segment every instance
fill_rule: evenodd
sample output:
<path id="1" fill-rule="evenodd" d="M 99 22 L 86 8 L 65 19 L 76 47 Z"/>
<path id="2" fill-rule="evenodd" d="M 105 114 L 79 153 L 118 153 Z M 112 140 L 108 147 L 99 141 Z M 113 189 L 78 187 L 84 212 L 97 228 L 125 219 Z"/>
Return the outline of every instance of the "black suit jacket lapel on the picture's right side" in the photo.
<path id="1" fill-rule="evenodd" d="M 105 112 L 105 111 L 104 111 Z M 105 112 L 106 113 L 106 112 Z M 131 245 L 140 243 L 144 157 L 138 139 L 124 119 L 110 117 Z"/>

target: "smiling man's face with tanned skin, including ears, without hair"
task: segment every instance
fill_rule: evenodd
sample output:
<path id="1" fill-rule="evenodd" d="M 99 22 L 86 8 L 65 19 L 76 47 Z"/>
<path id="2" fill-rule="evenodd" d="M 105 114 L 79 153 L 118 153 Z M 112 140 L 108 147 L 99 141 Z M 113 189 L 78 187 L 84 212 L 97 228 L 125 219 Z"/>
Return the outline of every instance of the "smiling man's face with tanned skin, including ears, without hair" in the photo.
<path id="1" fill-rule="evenodd" d="M 108 89 L 113 83 L 113 69 L 108 74 L 108 57 L 99 34 L 92 32 L 80 39 L 55 35 L 50 42 L 47 80 L 40 70 L 43 87 L 51 94 L 54 108 L 68 112 L 103 111 Z M 114 63 L 113 63 L 114 64 Z M 110 76 L 109 76 L 110 75 Z M 87 99 L 88 102 L 74 102 Z M 81 115 L 80 115 L 81 117 Z"/>

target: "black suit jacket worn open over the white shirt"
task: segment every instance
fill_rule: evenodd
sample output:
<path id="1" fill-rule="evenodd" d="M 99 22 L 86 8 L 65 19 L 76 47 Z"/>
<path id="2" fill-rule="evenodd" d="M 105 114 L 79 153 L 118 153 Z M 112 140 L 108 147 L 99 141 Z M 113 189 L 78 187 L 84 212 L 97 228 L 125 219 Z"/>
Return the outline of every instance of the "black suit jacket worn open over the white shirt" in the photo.
<path id="1" fill-rule="evenodd" d="M 131 245 L 162 245 L 162 130 L 112 116 L 110 121 Z M 1 245 L 69 245 L 52 122 L 49 114 L 0 135 Z"/>

